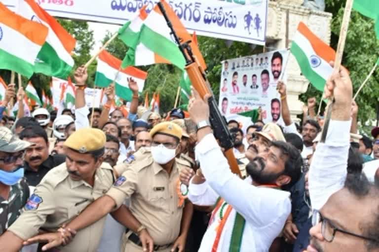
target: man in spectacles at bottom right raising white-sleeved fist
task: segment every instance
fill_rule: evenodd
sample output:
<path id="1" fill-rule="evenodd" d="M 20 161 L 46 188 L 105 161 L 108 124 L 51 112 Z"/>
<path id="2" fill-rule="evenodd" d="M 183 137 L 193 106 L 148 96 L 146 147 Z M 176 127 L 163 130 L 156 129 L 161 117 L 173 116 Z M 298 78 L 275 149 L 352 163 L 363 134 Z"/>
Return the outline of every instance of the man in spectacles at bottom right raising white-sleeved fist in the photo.
<path id="1" fill-rule="evenodd" d="M 309 169 L 313 227 L 308 252 L 378 252 L 379 187 L 365 175 L 347 175 L 352 84 L 346 69 L 325 86 L 334 97 L 325 143 L 318 143 Z"/>

